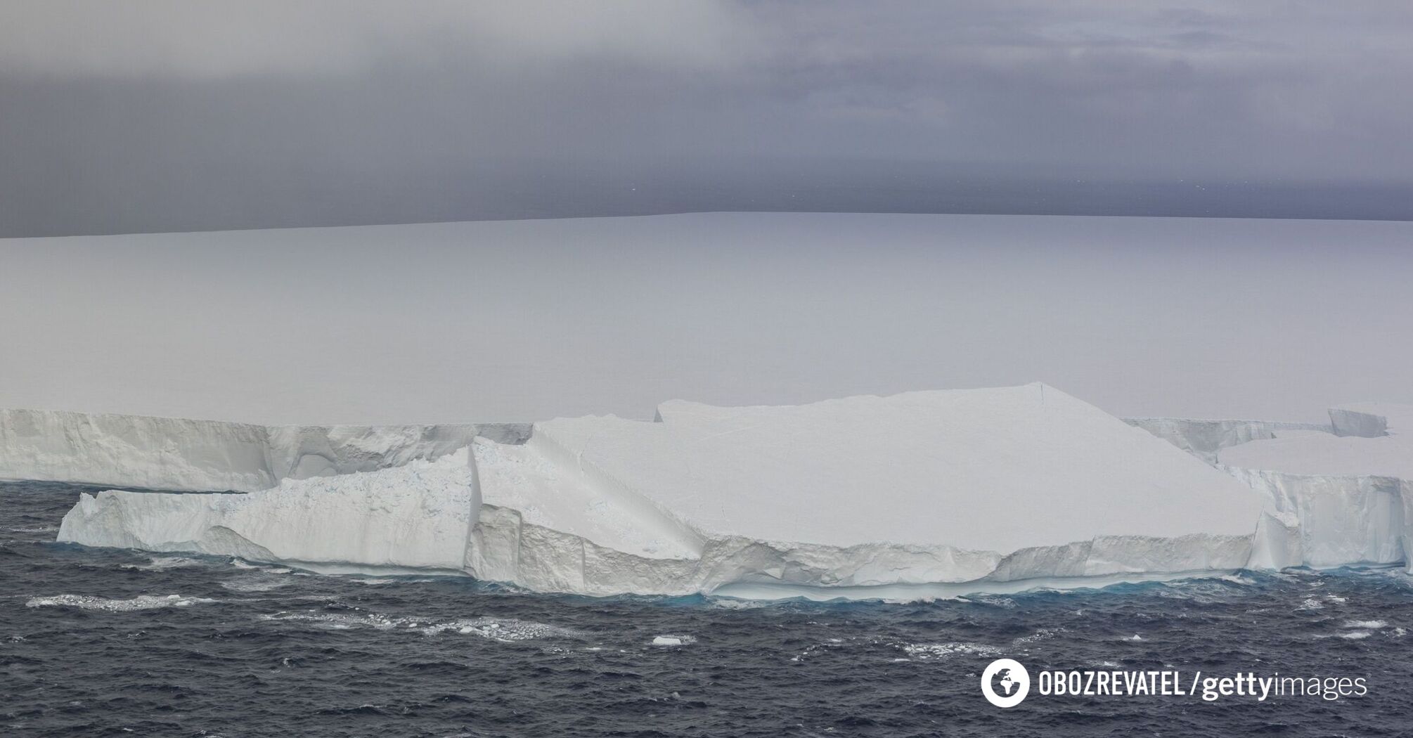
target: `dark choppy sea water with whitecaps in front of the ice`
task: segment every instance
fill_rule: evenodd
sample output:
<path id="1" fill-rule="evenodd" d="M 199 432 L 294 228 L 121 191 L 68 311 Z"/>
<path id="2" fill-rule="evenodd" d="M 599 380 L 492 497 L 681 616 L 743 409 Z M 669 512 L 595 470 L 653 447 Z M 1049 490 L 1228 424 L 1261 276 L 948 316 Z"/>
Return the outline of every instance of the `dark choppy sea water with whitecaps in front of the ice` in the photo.
<path id="1" fill-rule="evenodd" d="M 930 604 L 548 597 L 51 543 L 0 485 L 0 735 L 1409 735 L 1396 570 Z M 654 645 L 677 638 L 681 645 Z M 1023 662 L 1030 697 L 988 704 Z M 1365 677 L 1368 694 L 1043 697 L 1041 669 Z"/>

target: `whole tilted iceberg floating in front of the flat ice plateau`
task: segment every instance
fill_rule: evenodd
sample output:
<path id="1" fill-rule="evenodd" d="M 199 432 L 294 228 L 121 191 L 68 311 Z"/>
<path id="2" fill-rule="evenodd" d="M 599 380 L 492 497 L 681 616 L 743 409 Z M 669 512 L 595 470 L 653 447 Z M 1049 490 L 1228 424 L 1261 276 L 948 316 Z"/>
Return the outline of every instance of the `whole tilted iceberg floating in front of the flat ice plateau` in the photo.
<path id="1" fill-rule="evenodd" d="M 276 437 L 266 454 L 298 448 Z M 651 421 L 461 438 L 345 474 L 281 457 L 285 476 L 249 493 L 83 495 L 59 540 L 589 595 L 927 597 L 1238 570 L 1262 512 L 1229 474 L 1044 385 L 668 402 Z"/>

